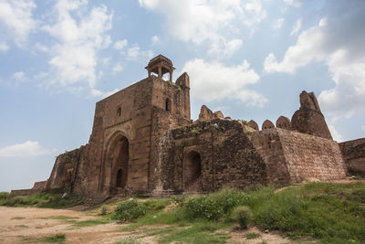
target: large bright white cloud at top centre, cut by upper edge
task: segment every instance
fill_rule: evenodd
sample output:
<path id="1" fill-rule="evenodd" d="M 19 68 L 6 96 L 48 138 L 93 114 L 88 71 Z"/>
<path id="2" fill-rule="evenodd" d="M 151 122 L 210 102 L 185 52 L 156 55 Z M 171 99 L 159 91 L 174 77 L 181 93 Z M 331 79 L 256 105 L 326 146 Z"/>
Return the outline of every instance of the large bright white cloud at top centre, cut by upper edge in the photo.
<path id="1" fill-rule="evenodd" d="M 259 0 L 139 0 L 140 5 L 165 16 L 173 37 L 195 45 L 209 44 L 209 52 L 230 52 L 232 40 L 244 25 L 250 31 L 266 18 Z M 183 11 L 182 11 L 183 9 Z"/>

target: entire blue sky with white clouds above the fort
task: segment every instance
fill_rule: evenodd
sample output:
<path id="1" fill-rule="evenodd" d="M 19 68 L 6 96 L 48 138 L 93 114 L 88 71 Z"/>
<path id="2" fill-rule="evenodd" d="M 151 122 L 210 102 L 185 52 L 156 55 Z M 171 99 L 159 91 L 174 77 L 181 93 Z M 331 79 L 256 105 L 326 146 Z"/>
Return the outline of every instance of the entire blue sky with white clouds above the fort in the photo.
<path id="1" fill-rule="evenodd" d="M 88 143 L 95 102 L 155 55 L 234 119 L 291 118 L 314 91 L 335 140 L 365 133 L 363 0 L 0 0 L 0 191 Z"/>

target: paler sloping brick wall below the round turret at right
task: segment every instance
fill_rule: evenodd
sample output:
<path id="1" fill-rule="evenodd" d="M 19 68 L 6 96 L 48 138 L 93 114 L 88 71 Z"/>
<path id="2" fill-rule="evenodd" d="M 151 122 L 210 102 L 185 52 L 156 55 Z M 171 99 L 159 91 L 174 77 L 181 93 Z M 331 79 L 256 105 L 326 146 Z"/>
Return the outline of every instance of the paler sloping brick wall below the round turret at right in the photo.
<path id="1" fill-rule="evenodd" d="M 339 144 L 326 138 L 276 129 L 293 182 L 308 178 L 334 180 L 346 177 Z"/>

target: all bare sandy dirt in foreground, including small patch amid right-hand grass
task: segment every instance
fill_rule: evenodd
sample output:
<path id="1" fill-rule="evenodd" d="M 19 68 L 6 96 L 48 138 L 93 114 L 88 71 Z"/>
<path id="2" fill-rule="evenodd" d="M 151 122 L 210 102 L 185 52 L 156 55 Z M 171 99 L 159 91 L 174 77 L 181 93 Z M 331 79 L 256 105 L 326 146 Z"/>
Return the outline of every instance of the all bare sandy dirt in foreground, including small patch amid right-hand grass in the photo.
<path id="1" fill-rule="evenodd" d="M 63 218 L 63 219 L 59 219 Z M 149 226 L 137 231 L 122 232 L 126 225 L 113 222 L 91 227 L 75 227 L 75 221 L 101 220 L 97 212 L 80 211 L 80 208 L 50 209 L 36 207 L 0 207 L 0 243 L 39 243 L 44 237 L 65 234 L 64 243 L 114 243 L 117 240 L 132 236 L 143 235 L 143 229 L 163 228 Z M 257 228 L 241 230 L 219 230 L 228 235 L 227 243 L 289 243 L 275 233 L 265 233 Z M 258 233 L 256 239 L 245 239 L 249 232 Z M 139 239 L 143 244 L 157 244 L 158 237 L 144 237 Z M 264 242 L 263 242 L 264 240 Z"/>

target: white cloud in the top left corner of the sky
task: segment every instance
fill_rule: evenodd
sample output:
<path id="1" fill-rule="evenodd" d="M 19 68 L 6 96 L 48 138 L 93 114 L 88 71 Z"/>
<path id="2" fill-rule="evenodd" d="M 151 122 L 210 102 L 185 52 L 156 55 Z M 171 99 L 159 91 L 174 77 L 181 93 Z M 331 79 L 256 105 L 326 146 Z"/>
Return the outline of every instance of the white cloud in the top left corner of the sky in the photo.
<path id="1" fill-rule="evenodd" d="M 32 17 L 35 8 L 33 1 L 0 0 L 0 23 L 9 30 L 18 46 L 22 46 L 36 28 L 36 20 Z"/>

